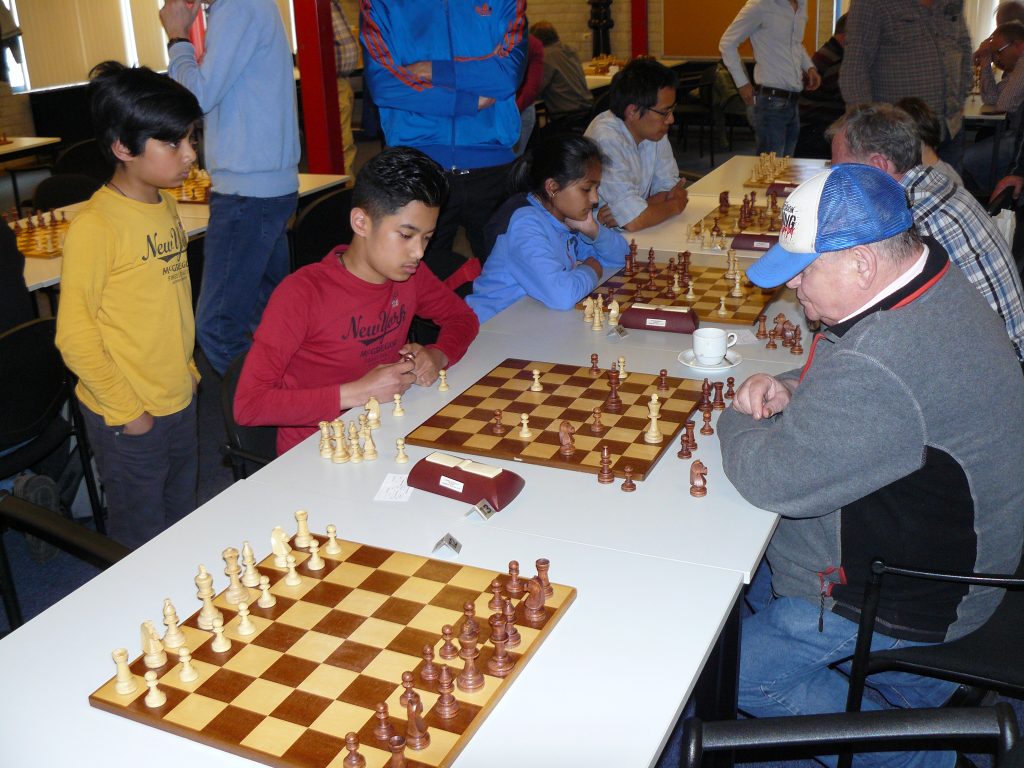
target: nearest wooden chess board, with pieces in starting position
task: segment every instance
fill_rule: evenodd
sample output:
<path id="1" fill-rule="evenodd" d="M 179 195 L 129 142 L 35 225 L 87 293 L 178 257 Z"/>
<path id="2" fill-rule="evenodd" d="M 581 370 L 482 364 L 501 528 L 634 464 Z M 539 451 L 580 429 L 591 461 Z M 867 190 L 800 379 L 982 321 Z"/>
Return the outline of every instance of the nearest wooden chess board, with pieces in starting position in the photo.
<path id="1" fill-rule="evenodd" d="M 326 542 L 325 537 L 317 540 Z M 326 566 L 318 571 L 307 565 L 309 555 L 294 550 L 301 586 L 284 583 L 285 569 L 269 556 L 258 564 L 272 584 L 276 605 L 260 608 L 260 591 L 250 589 L 251 618 L 257 631 L 250 636 L 237 632 L 236 606 L 223 593 L 214 604 L 224 615 L 229 650 L 210 648 L 213 635 L 199 629 L 196 614 L 182 623 L 186 645 L 199 679 L 178 679 L 176 653 L 168 652 L 168 664 L 155 670 L 167 701 L 145 706 L 146 686 L 141 680 L 146 668 L 139 656 L 131 671 L 139 678 L 134 693 L 116 692 L 114 678 L 100 686 L 89 703 L 100 710 L 170 731 L 271 766 L 341 768 L 345 734 L 359 738 L 359 754 L 368 768 L 380 768 L 390 760 L 387 745 L 374 735 L 375 708 L 388 706 L 395 732 L 406 733 L 406 708 L 398 703 L 403 672 L 415 674 L 415 689 L 423 703 L 430 743 L 423 750 L 406 749 L 406 764 L 447 766 L 480 727 L 523 667 L 530 660 L 552 628 L 575 598 L 575 590 L 553 584 L 554 596 L 545 601 L 544 618 L 528 624 L 517 606 L 520 644 L 510 648 L 515 667 L 505 678 L 486 671 L 494 646 L 487 607 L 493 598 L 493 580 L 507 574 L 458 563 L 339 541 L 342 552 L 331 555 L 321 547 Z M 294 540 L 293 540 L 294 546 Z M 466 693 L 455 689 L 459 712 L 444 720 L 437 716 L 437 681 L 420 677 L 423 646 L 435 646 L 434 664 L 447 664 L 453 678 L 463 662 L 445 662 L 440 648 L 440 629 L 462 625 L 463 605 L 472 601 L 480 625 L 477 668 L 484 673 L 482 688 Z M 137 638 L 136 638 L 137 641 Z M 506 713 L 510 719 L 515 713 Z"/>

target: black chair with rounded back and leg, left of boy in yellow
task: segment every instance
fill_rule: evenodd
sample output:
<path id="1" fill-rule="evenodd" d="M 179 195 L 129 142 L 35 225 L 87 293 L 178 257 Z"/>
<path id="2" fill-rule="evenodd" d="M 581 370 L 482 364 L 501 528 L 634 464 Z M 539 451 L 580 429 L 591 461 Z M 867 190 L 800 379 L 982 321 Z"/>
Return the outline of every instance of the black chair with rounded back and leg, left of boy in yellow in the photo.
<path id="1" fill-rule="evenodd" d="M 60 358 L 52 317 L 30 321 L 0 334 L 0 477 L 36 466 L 76 438 L 96 530 L 106 532 L 92 474 L 88 438 Z M 61 413 L 70 408 L 71 421 Z"/>

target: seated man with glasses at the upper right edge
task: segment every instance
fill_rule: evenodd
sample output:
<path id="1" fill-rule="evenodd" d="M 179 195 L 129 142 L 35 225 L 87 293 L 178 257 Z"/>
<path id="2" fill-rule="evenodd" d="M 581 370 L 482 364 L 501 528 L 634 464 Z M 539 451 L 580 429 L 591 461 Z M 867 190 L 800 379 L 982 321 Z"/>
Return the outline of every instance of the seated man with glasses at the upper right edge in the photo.
<path id="1" fill-rule="evenodd" d="M 1007 125 L 999 139 L 995 166 L 1000 174 L 1014 159 L 1021 106 L 1024 106 L 1024 66 L 1017 66 L 1021 53 L 1024 53 L 1024 27 L 1016 22 L 997 27 L 975 53 L 981 68 L 981 100 L 1007 113 Z M 998 82 L 993 68 L 1002 71 L 1002 78 Z M 989 191 L 997 180 L 991 177 L 993 141 L 994 136 L 987 136 L 975 141 L 964 152 L 966 181 L 978 191 Z"/>

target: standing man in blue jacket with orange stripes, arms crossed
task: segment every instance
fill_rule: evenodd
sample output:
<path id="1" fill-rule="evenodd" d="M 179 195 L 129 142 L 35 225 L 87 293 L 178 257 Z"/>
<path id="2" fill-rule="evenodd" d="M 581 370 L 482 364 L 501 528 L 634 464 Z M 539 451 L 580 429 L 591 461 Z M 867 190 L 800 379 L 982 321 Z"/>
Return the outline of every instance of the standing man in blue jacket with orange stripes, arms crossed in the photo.
<path id="1" fill-rule="evenodd" d="M 526 61 L 525 0 L 364 0 L 364 66 L 387 143 L 415 146 L 449 177 L 425 261 L 445 278 L 466 227 L 487 256 L 483 227 L 507 195 L 519 137 L 515 91 Z"/>

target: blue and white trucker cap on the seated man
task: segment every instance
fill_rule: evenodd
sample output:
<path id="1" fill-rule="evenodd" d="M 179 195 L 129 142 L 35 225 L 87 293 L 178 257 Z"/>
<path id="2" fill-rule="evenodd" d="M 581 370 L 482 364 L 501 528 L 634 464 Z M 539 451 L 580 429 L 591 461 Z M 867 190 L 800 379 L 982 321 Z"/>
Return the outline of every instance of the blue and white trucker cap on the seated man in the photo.
<path id="1" fill-rule="evenodd" d="M 899 182 L 873 166 L 841 163 L 786 198 L 778 243 L 746 270 L 762 288 L 779 286 L 822 253 L 892 238 L 913 225 Z"/>

